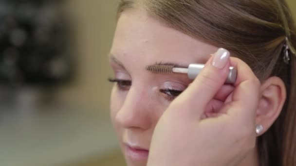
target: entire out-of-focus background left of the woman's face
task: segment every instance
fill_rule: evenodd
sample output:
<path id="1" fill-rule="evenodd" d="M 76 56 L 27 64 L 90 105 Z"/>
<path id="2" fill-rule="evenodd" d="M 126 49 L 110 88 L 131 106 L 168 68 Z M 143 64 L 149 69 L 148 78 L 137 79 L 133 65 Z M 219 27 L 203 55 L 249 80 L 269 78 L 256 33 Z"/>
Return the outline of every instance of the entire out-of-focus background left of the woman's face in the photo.
<path id="1" fill-rule="evenodd" d="M 0 0 L 0 166 L 125 166 L 107 82 L 117 2 Z"/>

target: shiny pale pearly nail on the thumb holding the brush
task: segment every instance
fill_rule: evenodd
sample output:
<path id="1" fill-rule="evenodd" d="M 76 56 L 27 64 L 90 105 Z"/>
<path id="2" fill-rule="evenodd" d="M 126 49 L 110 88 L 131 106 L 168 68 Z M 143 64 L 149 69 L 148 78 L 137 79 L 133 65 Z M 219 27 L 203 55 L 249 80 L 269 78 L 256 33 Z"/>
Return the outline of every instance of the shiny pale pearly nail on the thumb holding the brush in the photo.
<path id="1" fill-rule="evenodd" d="M 229 57 L 230 52 L 228 50 L 220 48 L 214 54 L 212 65 L 221 69 L 227 64 Z"/>

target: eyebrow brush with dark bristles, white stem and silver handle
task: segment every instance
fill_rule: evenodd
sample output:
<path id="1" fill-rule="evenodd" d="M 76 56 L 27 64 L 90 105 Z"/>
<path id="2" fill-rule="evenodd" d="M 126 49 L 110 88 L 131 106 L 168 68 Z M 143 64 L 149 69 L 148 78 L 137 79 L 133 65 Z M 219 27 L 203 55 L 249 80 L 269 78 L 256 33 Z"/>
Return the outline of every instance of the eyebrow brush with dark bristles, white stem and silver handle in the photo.
<path id="1" fill-rule="evenodd" d="M 150 65 L 146 69 L 152 73 L 184 73 L 188 75 L 189 79 L 194 80 L 203 69 L 204 64 L 190 64 L 188 68 L 175 67 L 173 65 Z M 237 79 L 237 68 L 229 67 L 229 74 L 225 83 L 235 83 Z"/>

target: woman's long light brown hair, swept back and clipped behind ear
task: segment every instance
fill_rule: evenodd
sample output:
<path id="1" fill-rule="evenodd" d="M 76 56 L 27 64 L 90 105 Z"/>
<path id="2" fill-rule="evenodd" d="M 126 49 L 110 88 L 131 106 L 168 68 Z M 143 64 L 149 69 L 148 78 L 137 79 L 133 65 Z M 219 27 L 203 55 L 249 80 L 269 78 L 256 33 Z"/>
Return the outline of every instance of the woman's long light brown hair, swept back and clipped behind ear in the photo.
<path id="1" fill-rule="evenodd" d="M 296 28 L 285 0 L 280 6 L 276 0 L 121 0 L 118 16 L 136 7 L 178 31 L 230 50 L 260 81 L 281 78 L 287 100 L 272 127 L 258 138 L 260 166 L 296 166 L 296 57 L 289 64 L 283 61 L 286 32 L 295 46 Z"/>

